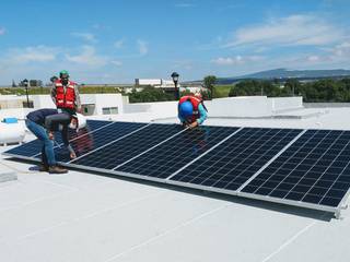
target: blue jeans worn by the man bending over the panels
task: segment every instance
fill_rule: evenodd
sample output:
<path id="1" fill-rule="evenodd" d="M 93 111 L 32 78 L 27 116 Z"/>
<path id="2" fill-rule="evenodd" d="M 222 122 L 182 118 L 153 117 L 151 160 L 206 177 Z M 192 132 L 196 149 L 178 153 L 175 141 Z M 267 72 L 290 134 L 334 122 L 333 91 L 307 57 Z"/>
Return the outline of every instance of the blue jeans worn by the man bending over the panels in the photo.
<path id="1" fill-rule="evenodd" d="M 37 124 L 28 119 L 25 120 L 25 124 L 28 128 L 28 130 L 31 130 L 32 133 L 34 133 L 35 136 L 43 143 L 43 147 L 42 147 L 43 165 L 45 167 L 55 166 L 56 159 L 55 159 L 55 152 L 54 152 L 54 141 L 48 138 L 46 129 L 43 128 L 40 124 Z"/>

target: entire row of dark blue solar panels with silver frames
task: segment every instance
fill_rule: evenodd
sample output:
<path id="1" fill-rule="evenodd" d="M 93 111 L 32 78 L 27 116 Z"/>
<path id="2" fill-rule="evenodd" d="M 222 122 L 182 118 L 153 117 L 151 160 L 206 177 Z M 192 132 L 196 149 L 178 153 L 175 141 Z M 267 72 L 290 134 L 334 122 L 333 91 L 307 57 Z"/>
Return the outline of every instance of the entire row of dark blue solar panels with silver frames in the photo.
<path id="1" fill-rule="evenodd" d="M 89 121 L 57 135 L 65 166 L 338 213 L 349 195 L 350 131 Z M 33 141 L 5 152 L 38 160 Z"/>

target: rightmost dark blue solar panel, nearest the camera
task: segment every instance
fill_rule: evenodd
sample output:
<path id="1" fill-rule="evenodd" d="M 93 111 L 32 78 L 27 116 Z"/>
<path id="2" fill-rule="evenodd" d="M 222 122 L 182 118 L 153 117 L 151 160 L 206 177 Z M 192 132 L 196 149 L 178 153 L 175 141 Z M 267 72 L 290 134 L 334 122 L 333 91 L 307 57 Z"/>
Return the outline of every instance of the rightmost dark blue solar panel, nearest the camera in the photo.
<path id="1" fill-rule="evenodd" d="M 308 130 L 242 191 L 337 207 L 350 188 L 350 132 Z"/>

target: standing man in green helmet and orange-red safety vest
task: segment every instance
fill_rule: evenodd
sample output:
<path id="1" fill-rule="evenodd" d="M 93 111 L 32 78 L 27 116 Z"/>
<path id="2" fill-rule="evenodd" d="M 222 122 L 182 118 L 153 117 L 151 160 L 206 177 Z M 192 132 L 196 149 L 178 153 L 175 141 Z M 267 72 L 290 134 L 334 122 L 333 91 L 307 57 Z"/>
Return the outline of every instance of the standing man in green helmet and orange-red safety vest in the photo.
<path id="1" fill-rule="evenodd" d="M 54 82 L 51 98 L 59 112 L 74 115 L 81 112 L 81 103 L 78 85 L 69 80 L 67 70 L 59 72 L 59 79 Z"/>

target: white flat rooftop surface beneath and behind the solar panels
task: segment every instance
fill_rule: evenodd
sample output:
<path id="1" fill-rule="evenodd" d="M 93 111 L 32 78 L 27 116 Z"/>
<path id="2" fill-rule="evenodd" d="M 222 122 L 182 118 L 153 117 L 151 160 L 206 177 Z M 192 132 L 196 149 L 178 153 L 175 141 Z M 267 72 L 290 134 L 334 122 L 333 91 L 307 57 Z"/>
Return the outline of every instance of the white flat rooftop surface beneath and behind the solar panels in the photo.
<path id="1" fill-rule="evenodd" d="M 212 118 L 206 124 L 350 130 L 350 108 L 319 111 L 289 119 Z M 120 118 L 128 120 L 114 117 Z M 31 163 L 0 159 L 0 168 L 19 178 L 0 183 L 0 261 L 350 261 L 349 209 L 336 219 L 137 179 L 79 170 L 48 175 Z"/>

